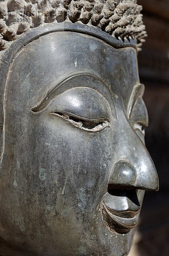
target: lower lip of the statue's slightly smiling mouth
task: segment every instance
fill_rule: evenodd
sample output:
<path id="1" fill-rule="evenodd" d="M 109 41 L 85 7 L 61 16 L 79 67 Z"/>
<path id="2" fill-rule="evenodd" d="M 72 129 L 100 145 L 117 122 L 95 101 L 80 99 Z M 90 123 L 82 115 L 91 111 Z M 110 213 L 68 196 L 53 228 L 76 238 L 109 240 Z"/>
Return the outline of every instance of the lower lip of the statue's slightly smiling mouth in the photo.
<path id="1" fill-rule="evenodd" d="M 110 212 L 110 210 L 107 209 L 107 207 L 105 207 L 104 204 L 102 205 L 101 208 L 102 208 L 103 214 L 106 215 L 106 219 L 109 226 L 111 226 L 111 222 L 113 221 L 115 224 L 118 224 L 118 226 L 126 230 L 130 230 L 138 224 L 139 213 L 137 213 L 133 218 L 122 218 Z"/>

